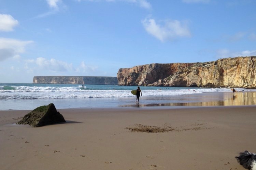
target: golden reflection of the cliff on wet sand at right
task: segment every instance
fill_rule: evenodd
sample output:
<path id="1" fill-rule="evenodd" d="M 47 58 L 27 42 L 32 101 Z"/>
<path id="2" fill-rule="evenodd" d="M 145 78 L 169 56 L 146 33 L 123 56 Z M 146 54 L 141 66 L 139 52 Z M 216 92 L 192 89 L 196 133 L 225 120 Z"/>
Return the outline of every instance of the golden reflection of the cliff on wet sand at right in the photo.
<path id="1" fill-rule="evenodd" d="M 209 95 L 209 96 L 208 96 Z M 256 91 L 252 92 L 236 92 L 233 93 L 219 93 L 217 98 L 212 97 L 213 94 L 207 94 L 207 98 L 212 98 L 212 101 L 205 100 L 205 95 L 202 96 L 201 102 L 174 102 L 174 103 L 157 103 L 157 104 L 137 104 L 135 107 L 144 106 L 245 106 L 256 105 Z M 216 96 L 216 94 L 214 94 Z M 171 98 L 171 97 L 170 97 Z M 189 99 L 188 99 L 189 101 Z M 134 105 L 123 105 L 124 107 Z"/>

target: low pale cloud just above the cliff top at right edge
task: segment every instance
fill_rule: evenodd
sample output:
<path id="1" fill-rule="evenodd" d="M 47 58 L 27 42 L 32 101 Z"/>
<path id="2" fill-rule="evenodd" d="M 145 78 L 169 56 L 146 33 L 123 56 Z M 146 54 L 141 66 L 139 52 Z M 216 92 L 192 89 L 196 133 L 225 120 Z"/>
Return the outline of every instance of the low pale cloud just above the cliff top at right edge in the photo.
<path id="1" fill-rule="evenodd" d="M 227 58 L 227 57 L 246 57 L 246 56 L 256 56 L 256 50 L 245 50 L 241 52 L 232 52 L 227 49 L 220 49 L 217 51 L 217 58 Z"/>

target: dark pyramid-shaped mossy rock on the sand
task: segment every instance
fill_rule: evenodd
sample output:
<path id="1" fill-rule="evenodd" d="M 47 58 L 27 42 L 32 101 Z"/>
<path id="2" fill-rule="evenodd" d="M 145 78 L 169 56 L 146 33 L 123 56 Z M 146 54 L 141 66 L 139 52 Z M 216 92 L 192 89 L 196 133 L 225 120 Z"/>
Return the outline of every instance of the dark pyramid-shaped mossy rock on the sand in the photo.
<path id="1" fill-rule="evenodd" d="M 16 124 L 29 124 L 33 127 L 45 126 L 48 124 L 66 122 L 64 117 L 57 112 L 53 103 L 47 106 L 40 106 L 23 117 Z"/>

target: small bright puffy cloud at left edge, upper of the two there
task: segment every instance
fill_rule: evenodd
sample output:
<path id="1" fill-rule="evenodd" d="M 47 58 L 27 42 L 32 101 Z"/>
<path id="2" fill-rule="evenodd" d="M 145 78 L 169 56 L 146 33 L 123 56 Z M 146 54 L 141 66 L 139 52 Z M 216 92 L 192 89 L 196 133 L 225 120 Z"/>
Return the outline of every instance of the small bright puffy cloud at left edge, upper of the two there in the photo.
<path id="1" fill-rule="evenodd" d="M 11 15 L 0 14 L 0 31 L 13 31 L 13 27 L 17 26 L 18 23 Z"/>

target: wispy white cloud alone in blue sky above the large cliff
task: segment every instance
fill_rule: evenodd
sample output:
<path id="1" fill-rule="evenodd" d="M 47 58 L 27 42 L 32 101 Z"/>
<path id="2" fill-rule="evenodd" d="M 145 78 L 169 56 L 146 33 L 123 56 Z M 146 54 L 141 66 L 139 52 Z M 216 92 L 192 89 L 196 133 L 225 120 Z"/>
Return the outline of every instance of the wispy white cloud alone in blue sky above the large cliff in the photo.
<path id="1" fill-rule="evenodd" d="M 144 19 L 142 24 L 145 30 L 160 41 L 174 40 L 178 37 L 190 37 L 191 33 L 186 26 L 178 20 L 166 20 L 162 24 L 156 23 L 154 19 Z"/>

